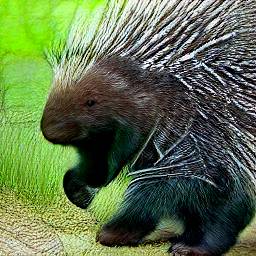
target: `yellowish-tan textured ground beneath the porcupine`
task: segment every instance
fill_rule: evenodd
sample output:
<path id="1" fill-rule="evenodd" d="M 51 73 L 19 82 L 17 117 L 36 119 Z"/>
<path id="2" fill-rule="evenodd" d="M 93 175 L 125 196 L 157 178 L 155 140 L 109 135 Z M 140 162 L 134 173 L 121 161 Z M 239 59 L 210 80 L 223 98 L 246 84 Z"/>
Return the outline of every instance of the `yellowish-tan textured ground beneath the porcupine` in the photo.
<path id="1" fill-rule="evenodd" d="M 108 248 L 95 242 L 100 224 L 69 202 L 31 206 L 11 192 L 0 197 L 0 255 L 167 255 L 168 244 Z M 242 235 L 229 256 L 256 255 L 256 223 Z"/>

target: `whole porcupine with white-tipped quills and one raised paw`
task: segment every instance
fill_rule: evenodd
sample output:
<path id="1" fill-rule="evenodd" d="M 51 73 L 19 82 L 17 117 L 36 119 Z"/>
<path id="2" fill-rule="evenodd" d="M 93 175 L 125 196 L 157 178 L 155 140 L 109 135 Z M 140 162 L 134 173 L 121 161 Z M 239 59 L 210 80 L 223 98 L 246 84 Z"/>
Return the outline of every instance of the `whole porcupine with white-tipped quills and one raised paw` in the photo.
<path id="1" fill-rule="evenodd" d="M 255 212 L 256 1 L 108 1 L 78 15 L 49 60 L 41 127 L 80 161 L 64 190 L 86 208 L 128 165 L 104 245 L 136 245 L 162 218 L 183 223 L 174 255 L 222 255 Z"/>

